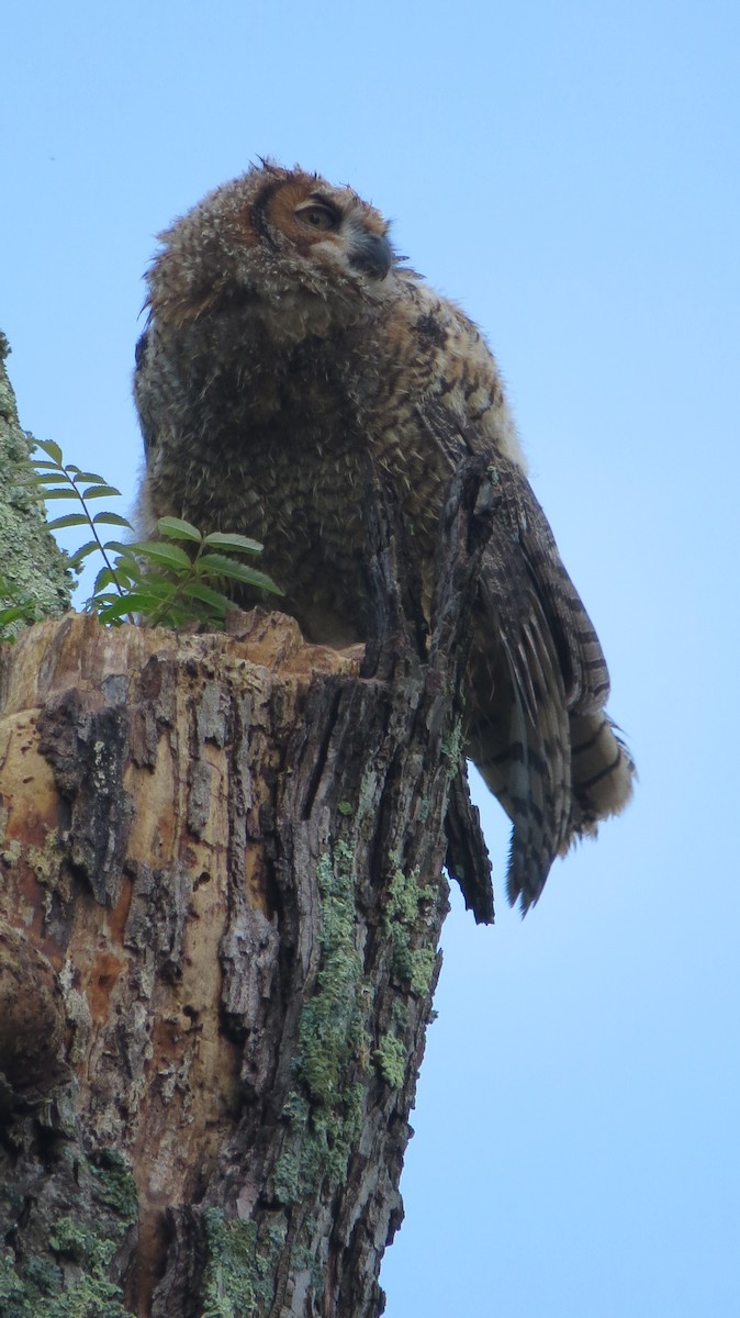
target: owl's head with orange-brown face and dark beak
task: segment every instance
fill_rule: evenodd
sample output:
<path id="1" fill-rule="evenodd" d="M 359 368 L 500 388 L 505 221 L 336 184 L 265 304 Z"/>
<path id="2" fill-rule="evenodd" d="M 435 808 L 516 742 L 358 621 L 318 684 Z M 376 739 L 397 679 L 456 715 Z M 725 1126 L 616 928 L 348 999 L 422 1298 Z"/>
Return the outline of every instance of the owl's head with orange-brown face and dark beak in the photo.
<path id="1" fill-rule="evenodd" d="M 147 303 L 172 326 L 230 307 L 279 337 L 323 333 L 390 293 L 387 232 L 352 188 L 265 161 L 159 235 Z"/>

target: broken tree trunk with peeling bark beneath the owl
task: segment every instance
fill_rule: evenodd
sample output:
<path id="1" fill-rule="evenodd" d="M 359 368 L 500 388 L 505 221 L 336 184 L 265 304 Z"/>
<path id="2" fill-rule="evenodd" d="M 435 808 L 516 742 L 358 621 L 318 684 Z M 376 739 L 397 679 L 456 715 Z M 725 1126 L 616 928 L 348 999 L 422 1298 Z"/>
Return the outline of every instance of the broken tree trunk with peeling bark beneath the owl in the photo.
<path id="1" fill-rule="evenodd" d="M 445 855 L 492 917 L 458 700 L 487 488 L 450 490 L 428 641 L 375 492 L 363 652 L 261 610 L 3 647 L 1 1315 L 382 1311 Z"/>

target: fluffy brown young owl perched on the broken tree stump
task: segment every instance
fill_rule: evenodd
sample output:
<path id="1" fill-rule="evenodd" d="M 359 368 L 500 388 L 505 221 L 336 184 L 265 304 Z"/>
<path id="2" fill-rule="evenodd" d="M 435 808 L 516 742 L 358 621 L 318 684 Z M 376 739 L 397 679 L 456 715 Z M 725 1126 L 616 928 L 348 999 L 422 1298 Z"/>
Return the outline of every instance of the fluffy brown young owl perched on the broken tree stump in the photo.
<path id="1" fill-rule="evenodd" d="M 348 187 L 262 163 L 162 236 L 137 348 L 142 531 L 163 515 L 265 542 L 305 635 L 365 639 L 369 473 L 399 493 L 428 604 L 442 493 L 487 455 L 500 506 L 478 583 L 466 753 L 508 812 L 525 911 L 553 858 L 632 791 L 608 675 L 475 326 L 400 265 Z M 241 598 L 241 602 L 249 602 Z"/>

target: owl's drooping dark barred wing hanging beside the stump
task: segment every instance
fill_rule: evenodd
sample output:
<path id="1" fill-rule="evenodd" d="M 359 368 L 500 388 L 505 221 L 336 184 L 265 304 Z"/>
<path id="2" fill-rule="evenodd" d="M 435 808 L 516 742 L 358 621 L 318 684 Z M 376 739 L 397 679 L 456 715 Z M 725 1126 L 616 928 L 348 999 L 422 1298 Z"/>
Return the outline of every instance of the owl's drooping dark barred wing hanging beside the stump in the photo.
<path id="1" fill-rule="evenodd" d="M 492 529 L 478 583 L 466 749 L 512 820 L 507 894 L 525 911 L 554 857 L 594 828 L 575 783 L 574 729 L 598 739 L 606 726 L 596 775 L 604 757 L 620 755 L 602 713 L 608 672 L 521 468 L 475 428 L 463 435 L 438 405 L 425 410 L 424 424 L 450 460 L 490 451 Z"/>

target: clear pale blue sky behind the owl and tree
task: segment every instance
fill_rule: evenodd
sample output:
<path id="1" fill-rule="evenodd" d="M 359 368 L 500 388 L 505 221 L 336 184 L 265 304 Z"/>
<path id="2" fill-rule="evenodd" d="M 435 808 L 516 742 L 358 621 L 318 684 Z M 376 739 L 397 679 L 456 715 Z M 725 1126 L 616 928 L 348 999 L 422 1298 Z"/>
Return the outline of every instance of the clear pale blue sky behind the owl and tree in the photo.
<path id="1" fill-rule="evenodd" d="M 636 800 L 523 923 L 460 900 L 388 1318 L 740 1314 L 736 0 L 38 0 L 3 17 L 21 422 L 133 502 L 154 235 L 257 154 L 350 183 L 482 326 Z M 57 510 L 55 510 L 57 511 Z"/>

